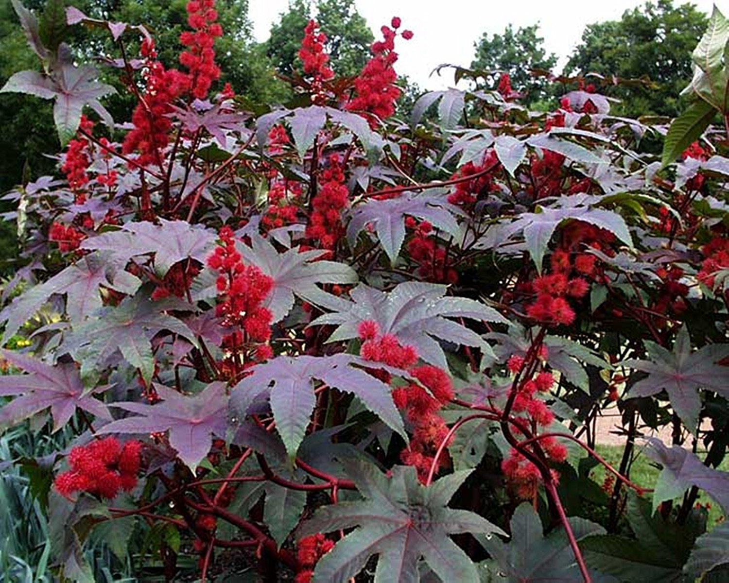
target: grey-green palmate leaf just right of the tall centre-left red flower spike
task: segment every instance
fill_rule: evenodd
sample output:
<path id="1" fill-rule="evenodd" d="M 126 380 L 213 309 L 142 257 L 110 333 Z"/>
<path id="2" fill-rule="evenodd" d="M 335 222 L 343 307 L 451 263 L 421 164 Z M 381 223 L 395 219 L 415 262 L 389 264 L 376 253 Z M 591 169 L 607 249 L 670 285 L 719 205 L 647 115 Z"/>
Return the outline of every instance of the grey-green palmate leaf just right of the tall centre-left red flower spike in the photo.
<path id="1" fill-rule="evenodd" d="M 251 235 L 251 245 L 239 243 L 238 251 L 246 264 L 256 265 L 273 278 L 273 290 L 265 300 L 273 312 L 273 321 L 286 317 L 294 306 L 294 296 L 315 305 L 328 307 L 338 297 L 322 290 L 317 283 L 356 283 L 357 274 L 351 267 L 334 261 L 316 261 L 325 251 L 316 249 L 300 252 L 297 247 L 278 253 L 270 240 Z"/>

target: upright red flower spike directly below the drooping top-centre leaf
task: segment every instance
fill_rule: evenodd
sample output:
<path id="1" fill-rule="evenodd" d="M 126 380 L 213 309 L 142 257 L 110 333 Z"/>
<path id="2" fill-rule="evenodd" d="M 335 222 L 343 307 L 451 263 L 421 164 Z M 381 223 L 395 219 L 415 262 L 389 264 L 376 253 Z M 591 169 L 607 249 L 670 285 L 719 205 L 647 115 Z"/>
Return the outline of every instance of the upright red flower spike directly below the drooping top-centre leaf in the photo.
<path id="1" fill-rule="evenodd" d="M 329 166 L 320 176 L 321 189 L 311 201 L 313 211 L 305 235 L 312 243 L 318 243 L 319 249 L 333 252 L 344 235 L 341 213 L 349 203 L 349 190 L 338 154 L 330 156 Z"/>

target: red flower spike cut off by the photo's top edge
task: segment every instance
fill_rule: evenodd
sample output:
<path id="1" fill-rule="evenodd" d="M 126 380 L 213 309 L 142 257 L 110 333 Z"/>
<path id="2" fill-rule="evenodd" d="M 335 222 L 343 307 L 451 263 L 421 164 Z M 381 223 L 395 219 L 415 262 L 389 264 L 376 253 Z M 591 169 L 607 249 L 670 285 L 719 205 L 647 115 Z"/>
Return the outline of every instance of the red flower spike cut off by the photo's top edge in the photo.
<path id="1" fill-rule="evenodd" d="M 190 0 L 187 3 L 187 23 L 192 31 L 184 31 L 180 42 L 189 50 L 180 54 L 180 63 L 190 70 L 190 89 L 198 99 L 205 99 L 214 81 L 220 78 L 220 68 L 215 64 L 215 39 L 223 29 L 215 9 L 215 0 Z"/>

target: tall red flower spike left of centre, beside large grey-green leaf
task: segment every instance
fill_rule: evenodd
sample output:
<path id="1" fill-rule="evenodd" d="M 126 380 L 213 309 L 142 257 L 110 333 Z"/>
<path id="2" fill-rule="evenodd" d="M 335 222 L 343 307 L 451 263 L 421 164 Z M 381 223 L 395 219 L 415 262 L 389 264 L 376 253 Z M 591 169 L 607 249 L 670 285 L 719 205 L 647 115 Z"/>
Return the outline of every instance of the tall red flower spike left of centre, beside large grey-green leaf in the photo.
<path id="1" fill-rule="evenodd" d="M 235 331 L 222 341 L 222 348 L 230 353 L 223 367 L 235 378 L 240 372 L 239 364 L 246 368 L 273 356 L 268 344 L 273 314 L 261 305 L 273 288 L 273 279 L 255 265 L 243 265 L 230 227 L 222 227 L 219 236 L 221 243 L 208 257 L 208 265 L 221 273 L 217 288 L 223 300 L 217 305 L 216 314 L 225 325 L 235 326 Z"/>

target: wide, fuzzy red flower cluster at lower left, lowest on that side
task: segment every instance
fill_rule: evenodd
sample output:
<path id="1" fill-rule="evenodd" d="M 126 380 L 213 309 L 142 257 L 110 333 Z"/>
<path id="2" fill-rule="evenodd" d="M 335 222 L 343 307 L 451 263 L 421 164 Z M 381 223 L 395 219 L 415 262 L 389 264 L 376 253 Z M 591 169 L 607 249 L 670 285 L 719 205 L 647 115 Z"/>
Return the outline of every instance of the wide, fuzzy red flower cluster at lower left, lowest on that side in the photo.
<path id="1" fill-rule="evenodd" d="M 74 447 L 69 453 L 71 469 L 58 474 L 55 488 L 66 498 L 78 490 L 101 498 L 114 498 L 119 490 L 128 492 L 137 483 L 141 448 L 138 441 L 122 447 L 116 437 Z"/>

